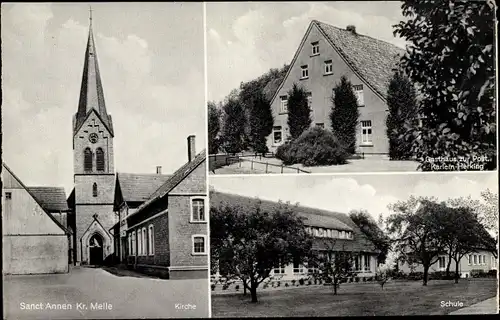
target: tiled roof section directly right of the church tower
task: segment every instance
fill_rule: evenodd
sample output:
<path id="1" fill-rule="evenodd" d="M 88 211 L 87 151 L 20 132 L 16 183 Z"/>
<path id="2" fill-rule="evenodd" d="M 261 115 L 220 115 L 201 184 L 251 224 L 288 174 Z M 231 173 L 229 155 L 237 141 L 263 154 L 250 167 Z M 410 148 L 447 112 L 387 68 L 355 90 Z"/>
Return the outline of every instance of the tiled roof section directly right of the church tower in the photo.
<path id="1" fill-rule="evenodd" d="M 119 186 L 121 190 L 123 201 L 144 202 L 171 176 L 170 174 L 117 173 L 116 186 Z"/>

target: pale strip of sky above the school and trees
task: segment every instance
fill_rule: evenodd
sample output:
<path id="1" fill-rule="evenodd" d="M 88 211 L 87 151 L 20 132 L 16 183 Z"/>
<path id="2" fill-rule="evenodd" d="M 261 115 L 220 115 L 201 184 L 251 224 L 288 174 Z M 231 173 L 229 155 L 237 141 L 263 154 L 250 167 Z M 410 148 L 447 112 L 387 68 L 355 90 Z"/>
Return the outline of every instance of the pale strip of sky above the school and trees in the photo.
<path id="1" fill-rule="evenodd" d="M 366 210 L 377 221 L 380 214 L 392 213 L 389 204 L 408 200 L 410 195 L 441 201 L 468 196 L 481 200 L 480 193 L 487 188 L 498 193 L 498 177 L 495 172 L 210 176 L 210 186 L 220 192 L 341 213 Z"/>

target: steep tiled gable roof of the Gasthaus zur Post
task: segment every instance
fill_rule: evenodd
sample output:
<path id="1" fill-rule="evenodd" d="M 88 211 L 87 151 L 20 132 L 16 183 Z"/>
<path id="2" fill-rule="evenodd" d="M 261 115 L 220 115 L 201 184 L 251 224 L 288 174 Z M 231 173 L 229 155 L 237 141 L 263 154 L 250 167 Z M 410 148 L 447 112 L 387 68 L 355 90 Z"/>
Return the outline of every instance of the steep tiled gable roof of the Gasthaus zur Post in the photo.
<path id="1" fill-rule="evenodd" d="M 319 29 L 351 70 L 385 101 L 393 69 L 396 67 L 399 57 L 404 54 L 405 50 L 382 40 L 355 34 L 351 31 L 313 20 L 295 53 L 291 66 L 293 66 L 297 59 L 300 49 L 313 26 Z M 276 99 L 276 95 L 288 78 L 290 70 L 291 68 L 280 86 L 276 88 L 271 102 Z"/>

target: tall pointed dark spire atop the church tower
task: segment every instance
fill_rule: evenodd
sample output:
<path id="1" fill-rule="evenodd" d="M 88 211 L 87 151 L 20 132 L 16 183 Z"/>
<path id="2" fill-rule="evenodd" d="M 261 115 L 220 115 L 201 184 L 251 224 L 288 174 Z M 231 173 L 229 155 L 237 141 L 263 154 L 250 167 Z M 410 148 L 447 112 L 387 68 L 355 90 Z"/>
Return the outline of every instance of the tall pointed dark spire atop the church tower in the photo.
<path id="1" fill-rule="evenodd" d="M 104 102 L 104 91 L 102 89 L 101 75 L 99 73 L 99 64 L 97 62 L 97 53 L 95 49 L 94 34 L 92 31 L 92 8 L 89 10 L 89 36 L 87 40 L 87 49 L 85 51 L 85 62 L 83 65 L 82 86 L 80 89 L 80 101 L 78 111 L 75 115 L 74 134 L 85 122 L 88 113 L 94 109 L 104 125 L 113 135 L 113 123 L 111 116 L 106 111 Z"/>

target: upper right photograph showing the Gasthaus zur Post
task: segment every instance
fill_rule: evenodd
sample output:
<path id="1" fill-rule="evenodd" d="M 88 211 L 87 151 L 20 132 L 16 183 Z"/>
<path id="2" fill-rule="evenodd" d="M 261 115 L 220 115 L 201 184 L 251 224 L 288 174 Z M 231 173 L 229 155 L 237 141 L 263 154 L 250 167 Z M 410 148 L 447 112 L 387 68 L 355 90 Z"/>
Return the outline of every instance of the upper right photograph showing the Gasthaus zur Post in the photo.
<path id="1" fill-rule="evenodd" d="M 212 174 L 496 169 L 492 1 L 206 8 Z"/>

